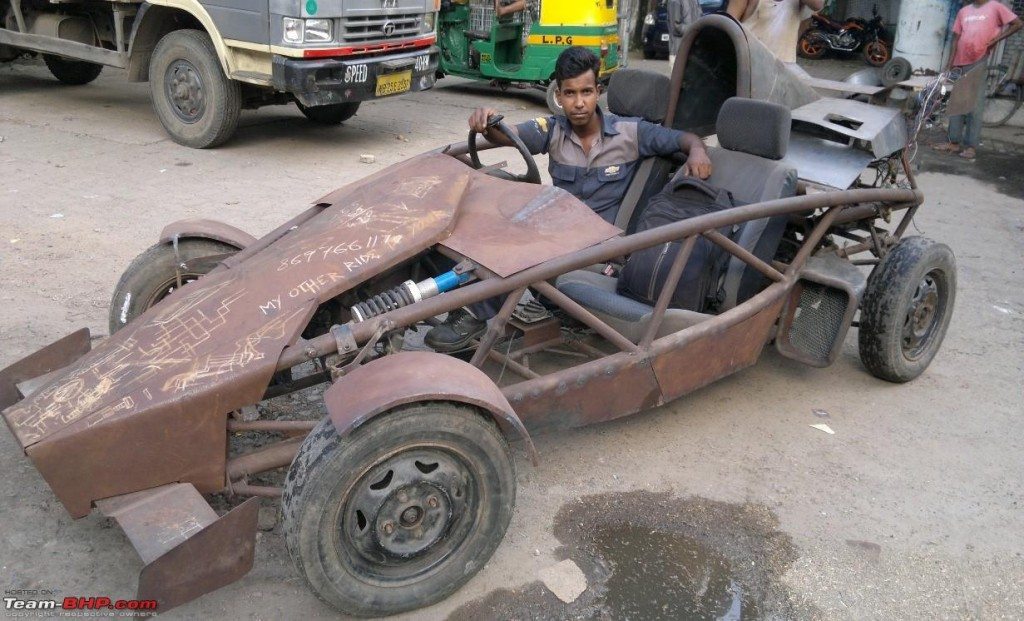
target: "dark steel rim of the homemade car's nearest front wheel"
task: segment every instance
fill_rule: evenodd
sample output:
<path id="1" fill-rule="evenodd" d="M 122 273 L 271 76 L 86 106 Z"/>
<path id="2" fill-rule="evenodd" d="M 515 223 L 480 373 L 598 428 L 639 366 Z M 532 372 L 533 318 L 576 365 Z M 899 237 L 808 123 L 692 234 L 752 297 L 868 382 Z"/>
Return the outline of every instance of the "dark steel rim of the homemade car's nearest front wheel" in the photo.
<path id="1" fill-rule="evenodd" d="M 422 580 L 469 538 L 480 512 L 478 480 L 450 447 L 420 446 L 367 468 L 332 524 L 338 558 L 385 586 Z"/>

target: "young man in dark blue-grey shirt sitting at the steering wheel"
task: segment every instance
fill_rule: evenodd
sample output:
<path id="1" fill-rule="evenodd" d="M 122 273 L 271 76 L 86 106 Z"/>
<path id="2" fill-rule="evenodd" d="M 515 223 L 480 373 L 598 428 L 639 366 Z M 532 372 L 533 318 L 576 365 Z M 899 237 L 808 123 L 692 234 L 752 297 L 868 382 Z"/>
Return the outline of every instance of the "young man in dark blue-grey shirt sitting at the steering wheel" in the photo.
<path id="1" fill-rule="evenodd" d="M 600 60 L 589 49 L 566 48 L 555 64 L 558 100 L 565 116 L 541 117 L 520 123 L 513 130 L 531 154 L 548 154 L 548 172 L 556 187 L 614 222 L 642 159 L 682 152 L 687 156 L 684 174 L 701 179 L 711 176 L 711 160 L 695 134 L 603 112 L 597 105 L 601 94 L 597 81 L 600 67 Z M 511 147 L 507 136 L 487 127 L 487 119 L 497 114 L 493 108 L 479 108 L 469 117 L 469 126 L 490 142 Z M 495 301 L 450 313 L 424 341 L 437 351 L 465 347 L 483 334 L 486 320 L 498 313 L 500 301 Z"/>

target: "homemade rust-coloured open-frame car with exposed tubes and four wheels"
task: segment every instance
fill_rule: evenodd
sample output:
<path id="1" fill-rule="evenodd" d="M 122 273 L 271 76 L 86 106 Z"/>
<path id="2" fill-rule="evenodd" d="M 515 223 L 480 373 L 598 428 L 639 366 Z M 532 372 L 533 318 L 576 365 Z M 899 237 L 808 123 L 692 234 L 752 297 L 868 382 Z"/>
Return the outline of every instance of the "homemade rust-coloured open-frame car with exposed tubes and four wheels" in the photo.
<path id="1" fill-rule="evenodd" d="M 613 226 L 538 184 L 521 143 L 516 176 L 480 164 L 471 135 L 259 240 L 171 224 L 119 283 L 110 337 L 90 350 L 81 330 L 0 372 L 4 418 L 73 516 L 95 506 L 123 527 L 145 563 L 138 596 L 161 610 L 252 566 L 257 501 L 218 516 L 203 494 L 219 492 L 281 496 L 309 587 L 339 611 L 386 615 L 483 567 L 515 500 L 509 443 L 536 462 L 537 429 L 657 407 L 772 342 L 826 366 L 858 312 L 867 370 L 912 379 L 944 336 L 955 264 L 903 237 L 923 202 L 904 119 L 769 80 L 784 70 L 764 53 L 707 17 L 671 80 L 624 71 L 609 93 L 613 112 L 717 133 L 710 180 L 749 205 L 634 233 L 672 162 L 641 164 Z M 701 238 L 731 255 L 714 303 L 669 308 Z M 682 250 L 652 305 L 600 273 L 669 242 Z M 527 291 L 545 302 L 519 304 Z M 408 350 L 411 328 L 495 296 L 501 310 L 462 358 Z M 324 419 L 258 418 L 260 402 L 319 383 Z M 283 439 L 230 454 L 228 433 L 249 432 Z M 258 479 L 282 467 L 283 485 Z"/>

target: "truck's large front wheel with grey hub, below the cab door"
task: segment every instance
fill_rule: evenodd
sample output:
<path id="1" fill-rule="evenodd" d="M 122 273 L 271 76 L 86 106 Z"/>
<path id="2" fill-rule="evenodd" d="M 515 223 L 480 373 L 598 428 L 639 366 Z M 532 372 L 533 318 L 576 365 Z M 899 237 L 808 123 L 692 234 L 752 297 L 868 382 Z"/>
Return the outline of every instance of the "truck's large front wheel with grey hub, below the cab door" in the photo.
<path id="1" fill-rule="evenodd" d="M 239 83 L 224 75 L 210 36 L 198 30 L 174 31 L 157 43 L 150 95 L 171 138 L 194 149 L 223 143 L 242 114 Z"/>

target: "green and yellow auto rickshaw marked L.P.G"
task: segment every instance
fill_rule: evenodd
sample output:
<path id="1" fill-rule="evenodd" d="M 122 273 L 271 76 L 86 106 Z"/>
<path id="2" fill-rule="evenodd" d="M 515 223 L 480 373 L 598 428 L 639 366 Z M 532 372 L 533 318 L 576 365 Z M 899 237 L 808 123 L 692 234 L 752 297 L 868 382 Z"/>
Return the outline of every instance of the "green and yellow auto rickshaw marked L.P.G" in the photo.
<path id="1" fill-rule="evenodd" d="M 495 0 L 442 0 L 438 77 L 546 89 L 548 108 L 560 114 L 553 80 L 558 54 L 570 45 L 590 48 L 601 59 L 598 78 L 606 84 L 618 69 L 617 11 L 618 0 L 543 0 L 498 17 Z"/>

